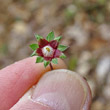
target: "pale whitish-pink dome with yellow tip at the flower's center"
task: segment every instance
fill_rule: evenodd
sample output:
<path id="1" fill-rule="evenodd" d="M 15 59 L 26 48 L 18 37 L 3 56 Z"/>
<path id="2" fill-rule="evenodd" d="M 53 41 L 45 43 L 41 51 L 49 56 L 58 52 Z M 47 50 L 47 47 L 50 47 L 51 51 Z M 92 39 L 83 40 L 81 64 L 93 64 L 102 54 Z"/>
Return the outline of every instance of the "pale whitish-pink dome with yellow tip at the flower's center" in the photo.
<path id="1" fill-rule="evenodd" d="M 45 46 L 42 48 L 42 53 L 44 57 L 53 57 L 54 49 L 50 46 Z"/>

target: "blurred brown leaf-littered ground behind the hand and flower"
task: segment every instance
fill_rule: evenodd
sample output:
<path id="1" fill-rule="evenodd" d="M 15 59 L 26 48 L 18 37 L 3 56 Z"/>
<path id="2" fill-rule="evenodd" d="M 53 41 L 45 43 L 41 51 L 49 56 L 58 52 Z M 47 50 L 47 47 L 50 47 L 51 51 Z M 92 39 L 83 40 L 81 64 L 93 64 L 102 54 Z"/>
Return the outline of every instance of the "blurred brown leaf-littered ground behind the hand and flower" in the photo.
<path id="1" fill-rule="evenodd" d="M 91 110 L 110 110 L 109 0 L 0 0 L 0 68 L 32 53 L 34 33 L 70 46 L 65 62 L 87 78 Z"/>

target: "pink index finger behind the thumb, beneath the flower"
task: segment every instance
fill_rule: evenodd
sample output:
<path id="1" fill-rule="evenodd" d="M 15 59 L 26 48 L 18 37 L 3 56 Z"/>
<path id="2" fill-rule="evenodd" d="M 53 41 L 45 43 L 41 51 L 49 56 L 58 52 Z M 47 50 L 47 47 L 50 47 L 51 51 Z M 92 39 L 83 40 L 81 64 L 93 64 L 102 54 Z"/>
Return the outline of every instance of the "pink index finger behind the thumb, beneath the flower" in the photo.
<path id="1" fill-rule="evenodd" d="M 58 65 L 53 66 L 54 69 L 66 68 L 60 59 Z M 35 57 L 0 70 L 0 110 L 9 110 L 49 70 L 50 67 L 45 68 L 43 63 L 35 64 Z"/>

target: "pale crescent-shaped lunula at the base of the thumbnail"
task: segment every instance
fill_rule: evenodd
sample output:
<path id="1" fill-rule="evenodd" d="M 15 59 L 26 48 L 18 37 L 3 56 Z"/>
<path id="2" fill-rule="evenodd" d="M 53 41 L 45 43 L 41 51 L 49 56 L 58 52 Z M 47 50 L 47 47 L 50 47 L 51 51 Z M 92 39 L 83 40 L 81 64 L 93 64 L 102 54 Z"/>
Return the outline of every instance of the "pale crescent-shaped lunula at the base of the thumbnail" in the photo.
<path id="1" fill-rule="evenodd" d="M 34 101 L 48 105 L 55 110 L 71 110 L 66 97 L 57 92 L 42 94 Z"/>

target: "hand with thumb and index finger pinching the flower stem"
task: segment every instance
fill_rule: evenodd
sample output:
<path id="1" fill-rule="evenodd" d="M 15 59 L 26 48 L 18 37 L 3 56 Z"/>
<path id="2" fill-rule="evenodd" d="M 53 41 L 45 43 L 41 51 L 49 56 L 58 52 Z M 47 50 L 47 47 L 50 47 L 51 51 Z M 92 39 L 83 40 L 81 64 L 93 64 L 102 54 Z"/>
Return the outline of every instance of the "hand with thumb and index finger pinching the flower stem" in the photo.
<path id="1" fill-rule="evenodd" d="M 62 60 L 53 66 L 58 70 L 47 72 L 50 68 L 35 64 L 32 57 L 0 70 L 0 110 L 89 110 L 87 82 L 60 69 L 66 68 Z"/>

